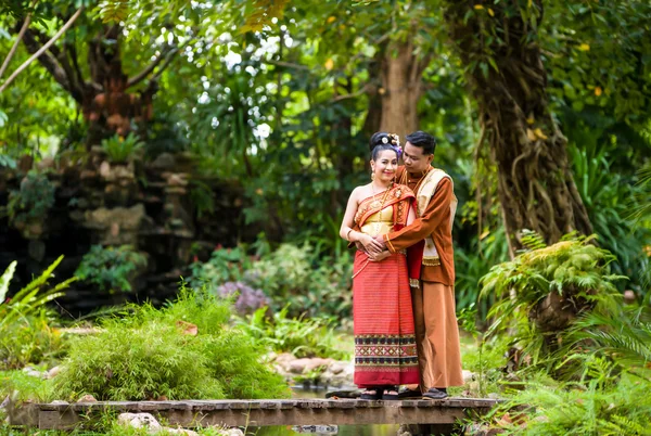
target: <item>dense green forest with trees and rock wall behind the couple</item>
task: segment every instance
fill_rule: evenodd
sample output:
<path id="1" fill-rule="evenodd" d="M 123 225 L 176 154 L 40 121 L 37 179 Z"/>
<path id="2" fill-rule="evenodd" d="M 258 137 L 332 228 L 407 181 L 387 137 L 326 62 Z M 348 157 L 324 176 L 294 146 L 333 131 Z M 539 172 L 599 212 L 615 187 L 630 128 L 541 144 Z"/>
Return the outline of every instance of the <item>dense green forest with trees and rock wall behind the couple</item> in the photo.
<path id="1" fill-rule="evenodd" d="M 553 354 L 604 309 L 595 295 L 615 295 L 638 315 L 609 299 L 592 326 L 630 326 L 618 346 L 649 362 L 648 2 L 3 0 L 0 14 L 0 268 L 20 260 L 8 295 L 64 254 L 71 319 L 162 304 L 182 275 L 238 295 L 242 313 L 346 330 L 339 226 L 369 181 L 368 139 L 422 129 L 460 202 L 467 332 L 483 337 L 508 306 L 529 356 Z"/>

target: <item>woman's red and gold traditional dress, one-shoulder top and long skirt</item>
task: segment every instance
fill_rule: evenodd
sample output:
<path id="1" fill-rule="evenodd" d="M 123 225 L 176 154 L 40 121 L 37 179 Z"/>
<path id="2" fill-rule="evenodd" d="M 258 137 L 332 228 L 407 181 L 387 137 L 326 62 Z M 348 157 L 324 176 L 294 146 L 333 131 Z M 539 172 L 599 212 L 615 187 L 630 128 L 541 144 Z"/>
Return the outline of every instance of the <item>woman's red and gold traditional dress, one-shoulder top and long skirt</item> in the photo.
<path id="1" fill-rule="evenodd" d="M 356 228 L 373 238 L 400 230 L 413 198 L 401 184 L 365 198 L 355 215 Z M 406 254 L 375 262 L 358 251 L 353 273 L 355 384 L 369 388 L 419 383 Z"/>

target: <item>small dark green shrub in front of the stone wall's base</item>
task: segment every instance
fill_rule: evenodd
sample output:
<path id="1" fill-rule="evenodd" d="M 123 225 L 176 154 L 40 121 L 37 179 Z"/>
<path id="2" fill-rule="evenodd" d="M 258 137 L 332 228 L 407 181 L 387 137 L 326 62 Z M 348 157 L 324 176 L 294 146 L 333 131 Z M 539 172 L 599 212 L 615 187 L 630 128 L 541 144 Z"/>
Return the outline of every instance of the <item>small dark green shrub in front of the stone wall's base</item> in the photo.
<path id="1" fill-rule="evenodd" d="M 130 245 L 93 245 L 84 255 L 75 275 L 99 285 L 101 291 L 130 292 L 133 273 L 146 264 L 146 257 Z"/>

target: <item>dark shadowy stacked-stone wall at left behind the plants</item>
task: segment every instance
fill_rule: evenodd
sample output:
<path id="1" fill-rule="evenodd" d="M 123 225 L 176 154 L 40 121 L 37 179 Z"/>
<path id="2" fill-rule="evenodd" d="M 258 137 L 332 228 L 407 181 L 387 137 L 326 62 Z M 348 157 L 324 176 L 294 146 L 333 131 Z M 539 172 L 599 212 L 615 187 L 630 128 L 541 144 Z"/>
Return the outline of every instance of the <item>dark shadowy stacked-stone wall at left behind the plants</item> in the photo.
<path id="1" fill-rule="evenodd" d="M 65 255 L 56 279 L 74 274 L 91 245 L 130 244 L 148 258 L 148 267 L 132 279 L 133 292 L 100 292 L 77 282 L 61 298 L 61 310 L 73 317 L 125 300 L 159 304 L 174 295 L 180 277 L 188 277 L 194 256 L 207 258 L 215 246 L 252 241 L 259 229 L 244 227 L 243 189 L 237 182 L 199 178 L 189 154 L 162 154 L 143 164 L 111 164 L 101 148 L 85 162 L 63 156 L 18 168 L 0 168 L 0 207 L 7 209 L 12 190 L 18 190 L 28 170 L 47 175 L 54 184 L 54 205 L 47 216 L 11 222 L 0 214 L 0 270 L 17 260 L 11 292 L 25 285 L 56 257 Z M 201 184 L 214 200 L 213 213 L 197 214 L 192 190 Z M 204 195 L 205 196 L 205 195 Z M 7 210 L 5 210 L 7 211 Z"/>

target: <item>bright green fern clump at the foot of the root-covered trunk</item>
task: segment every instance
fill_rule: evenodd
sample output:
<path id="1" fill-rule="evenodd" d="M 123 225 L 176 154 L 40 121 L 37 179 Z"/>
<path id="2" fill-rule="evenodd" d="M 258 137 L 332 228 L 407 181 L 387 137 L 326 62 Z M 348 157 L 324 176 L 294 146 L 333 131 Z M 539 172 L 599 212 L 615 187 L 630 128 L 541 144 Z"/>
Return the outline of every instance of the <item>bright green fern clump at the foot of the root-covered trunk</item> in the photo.
<path id="1" fill-rule="evenodd" d="M 593 239 L 571 234 L 547 246 L 539 235 L 525 234 L 525 251 L 481 280 L 481 296 L 497 300 L 488 333 L 513 329 L 514 342 L 538 363 L 558 349 L 559 333 L 579 315 L 615 312 L 615 281 L 625 278 L 610 273 L 615 257 Z"/>

